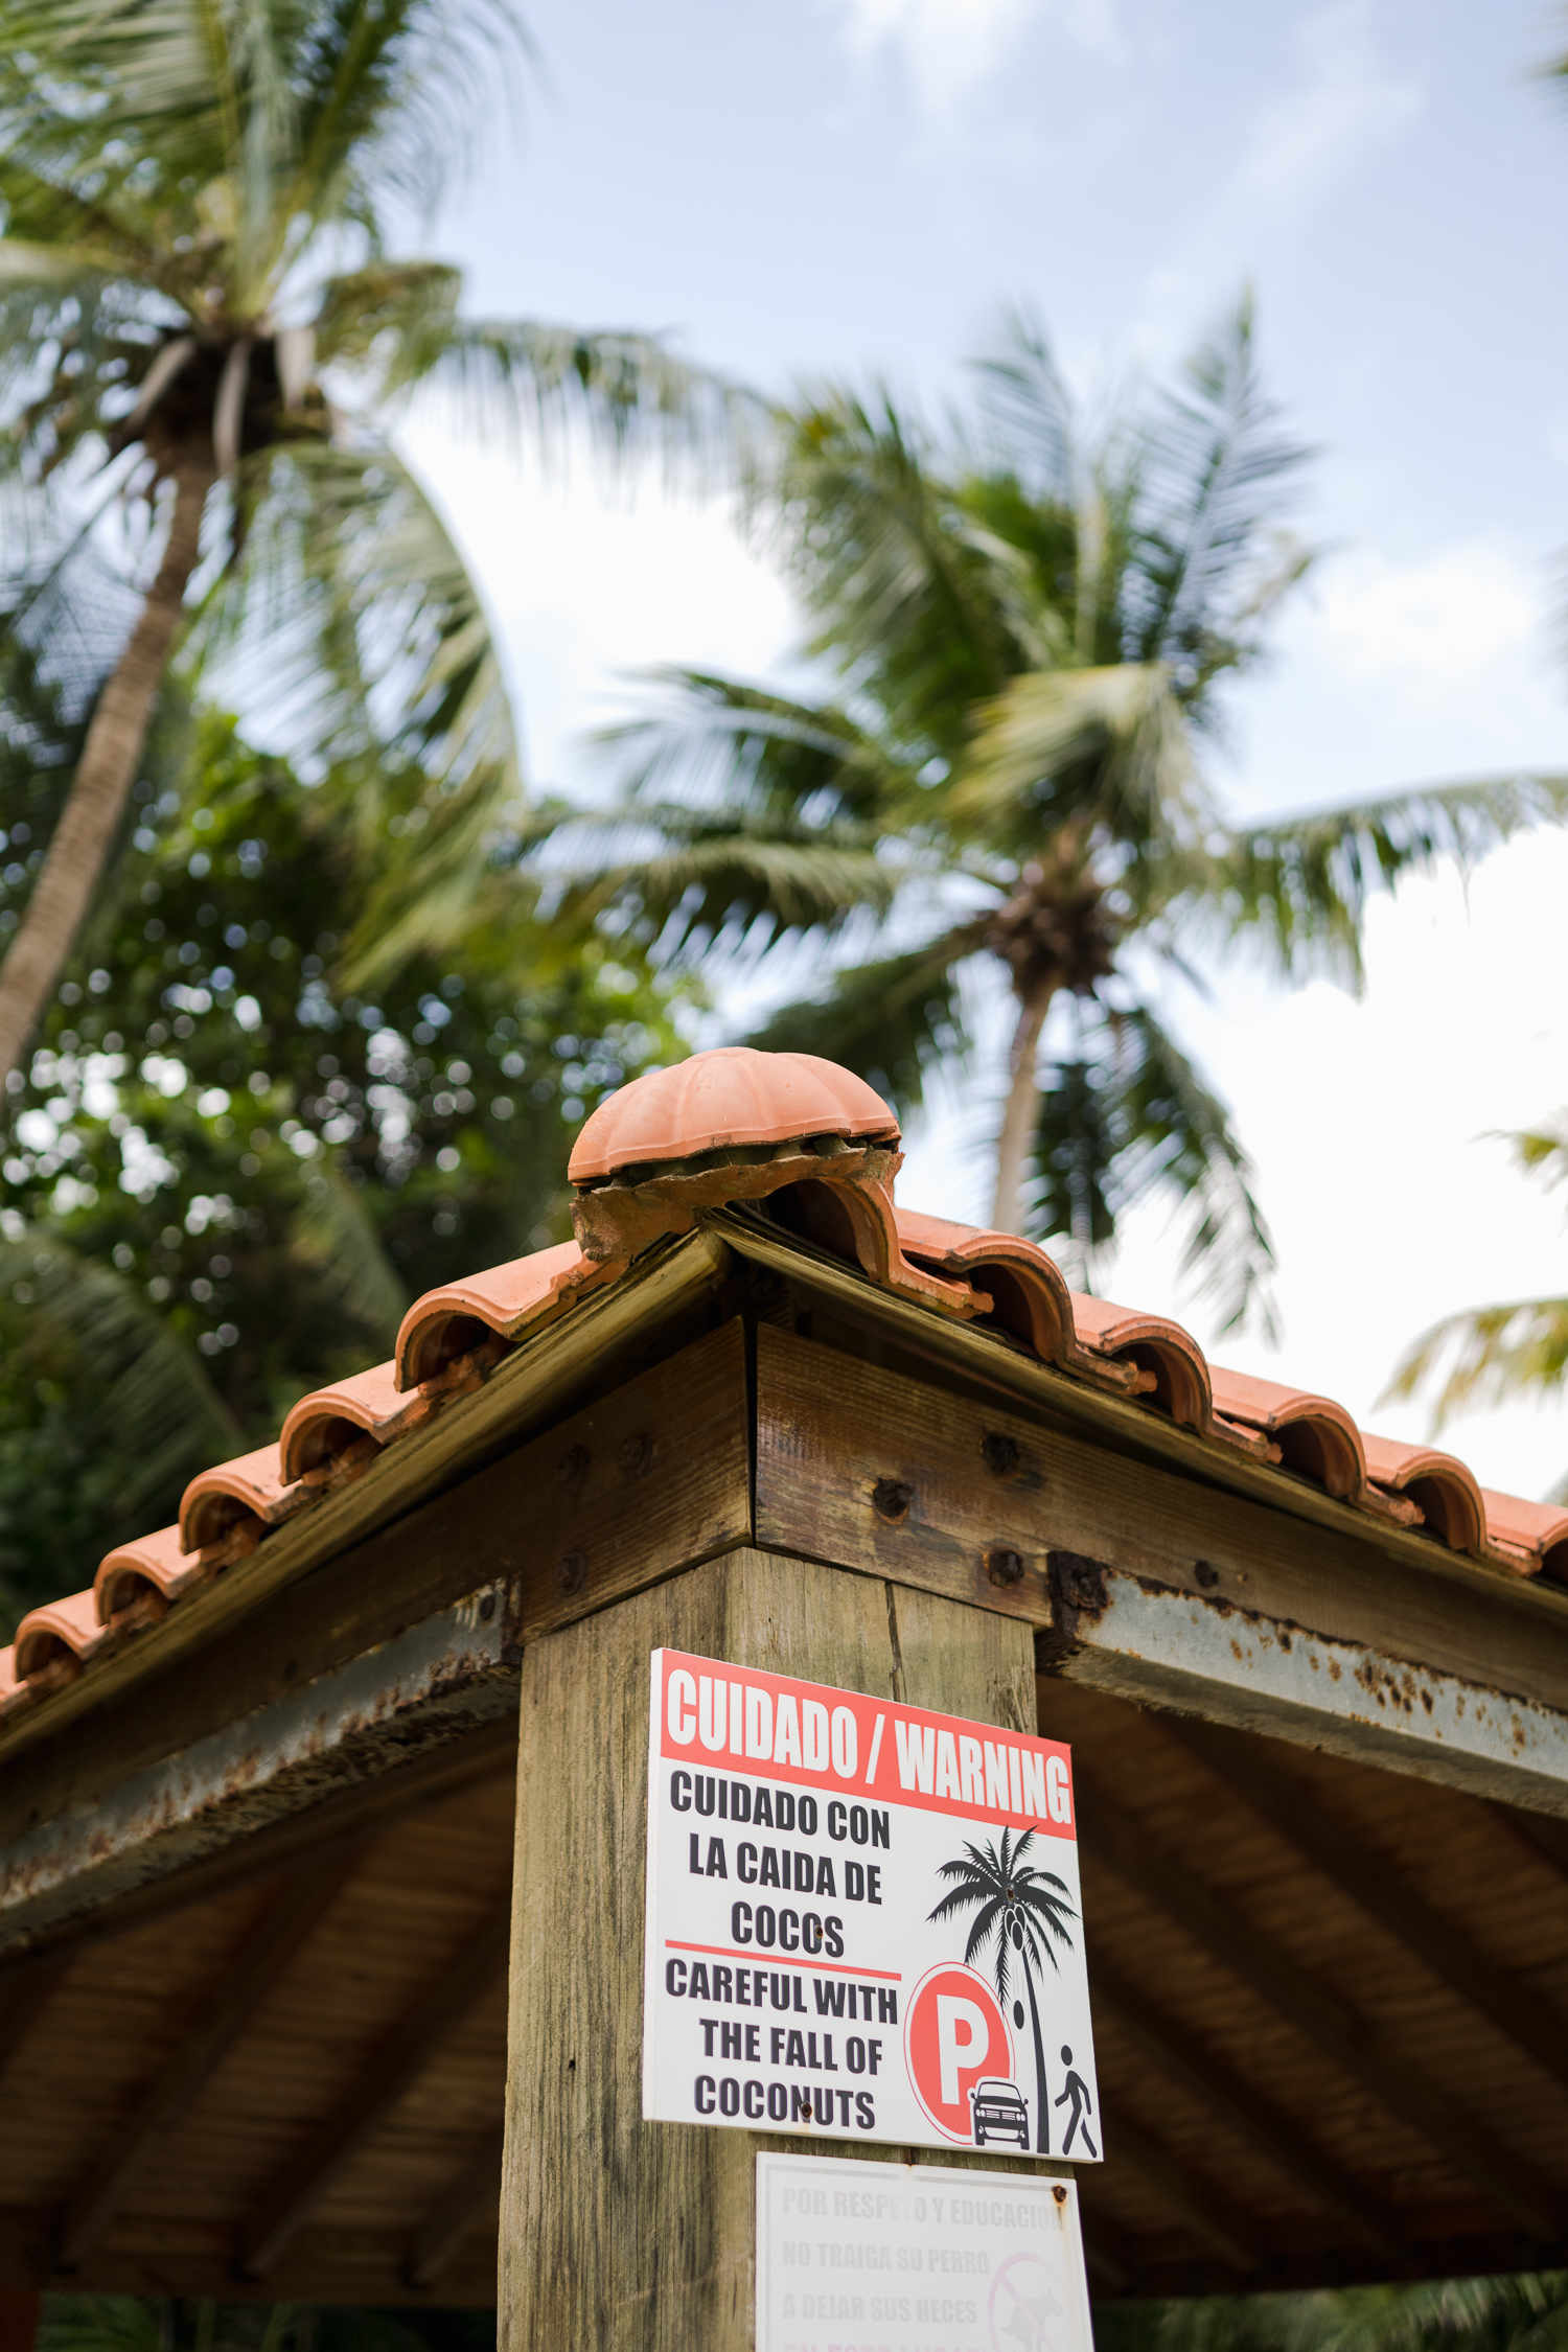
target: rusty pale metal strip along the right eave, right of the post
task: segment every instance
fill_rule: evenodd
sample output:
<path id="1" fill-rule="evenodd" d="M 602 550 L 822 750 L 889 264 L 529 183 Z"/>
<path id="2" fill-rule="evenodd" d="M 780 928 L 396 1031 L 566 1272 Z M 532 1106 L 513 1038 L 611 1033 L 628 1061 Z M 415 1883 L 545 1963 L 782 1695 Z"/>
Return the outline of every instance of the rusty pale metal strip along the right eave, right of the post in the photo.
<path id="1" fill-rule="evenodd" d="M 1084 1569 L 1095 1569 L 1093 1581 Z M 1041 1672 L 1133 1705 L 1568 1818 L 1568 1712 L 1227 1599 L 1072 1559 L 1072 1606 L 1037 1637 L 1037 1656 Z"/>

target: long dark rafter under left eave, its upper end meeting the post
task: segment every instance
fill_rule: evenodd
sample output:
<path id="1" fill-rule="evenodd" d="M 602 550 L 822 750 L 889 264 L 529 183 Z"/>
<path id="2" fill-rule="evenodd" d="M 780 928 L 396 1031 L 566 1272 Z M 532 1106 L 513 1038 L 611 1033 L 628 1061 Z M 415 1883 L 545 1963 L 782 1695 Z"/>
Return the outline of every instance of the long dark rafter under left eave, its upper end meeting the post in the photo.
<path id="1" fill-rule="evenodd" d="M 414 2089 L 442 2046 L 505 1971 L 510 1900 L 447 1962 L 414 2006 L 397 2020 L 374 2060 L 339 2100 L 310 2143 L 282 2169 L 240 2225 L 240 2272 L 263 2279 L 303 2227 L 350 2157 L 369 2140 L 397 2100 Z"/>

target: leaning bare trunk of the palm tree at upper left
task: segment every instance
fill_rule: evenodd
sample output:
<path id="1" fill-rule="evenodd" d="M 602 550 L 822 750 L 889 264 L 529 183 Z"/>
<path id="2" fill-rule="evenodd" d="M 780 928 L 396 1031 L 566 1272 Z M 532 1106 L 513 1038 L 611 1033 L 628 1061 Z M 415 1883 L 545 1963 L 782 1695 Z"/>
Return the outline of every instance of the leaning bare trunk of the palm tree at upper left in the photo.
<path id="1" fill-rule="evenodd" d="M 200 553 L 202 506 L 212 473 L 190 466 L 174 482 L 174 515 L 158 579 L 148 588 L 129 644 L 103 682 L 75 783 L 33 884 L 21 929 L 5 964 L 0 964 L 0 1087 L 21 1063 L 82 929 L 125 816 L 153 701 L 174 652 L 186 586 Z"/>

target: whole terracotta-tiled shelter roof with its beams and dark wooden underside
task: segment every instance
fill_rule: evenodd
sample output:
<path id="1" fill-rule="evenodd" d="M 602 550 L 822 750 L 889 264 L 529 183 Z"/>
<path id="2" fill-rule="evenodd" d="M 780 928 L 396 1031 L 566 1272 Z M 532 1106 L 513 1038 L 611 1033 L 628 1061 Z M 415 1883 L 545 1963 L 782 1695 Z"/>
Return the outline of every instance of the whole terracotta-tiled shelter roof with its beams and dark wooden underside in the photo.
<path id="1" fill-rule="evenodd" d="M 26 1621 L 0 2286 L 491 2300 L 522 1661 L 738 1562 L 1034 1656 L 1098 2293 L 1568 2260 L 1568 1512 L 896 1209 L 830 1108 L 599 1131 L 574 1244 Z"/>

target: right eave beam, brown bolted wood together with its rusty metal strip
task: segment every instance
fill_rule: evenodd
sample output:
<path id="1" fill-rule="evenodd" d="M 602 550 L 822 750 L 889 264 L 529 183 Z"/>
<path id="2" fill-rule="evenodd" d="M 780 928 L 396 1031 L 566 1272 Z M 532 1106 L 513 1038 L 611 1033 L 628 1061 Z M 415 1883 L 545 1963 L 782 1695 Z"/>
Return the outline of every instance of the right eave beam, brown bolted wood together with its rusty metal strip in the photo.
<path id="1" fill-rule="evenodd" d="M 1215 1449 L 1192 1446 L 1208 1468 Z M 762 1545 L 1023 1618 L 1041 1668 L 1135 1705 L 1568 1813 L 1568 1599 L 1418 1536 L 1385 1559 L 1340 1503 L 1338 1536 L 1300 1526 L 1300 1482 L 1272 1482 L 1265 1510 L 1018 1404 L 757 1329 Z M 893 1486 L 907 1503 L 886 1515 Z"/>

